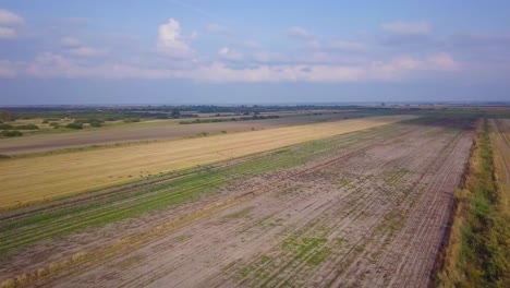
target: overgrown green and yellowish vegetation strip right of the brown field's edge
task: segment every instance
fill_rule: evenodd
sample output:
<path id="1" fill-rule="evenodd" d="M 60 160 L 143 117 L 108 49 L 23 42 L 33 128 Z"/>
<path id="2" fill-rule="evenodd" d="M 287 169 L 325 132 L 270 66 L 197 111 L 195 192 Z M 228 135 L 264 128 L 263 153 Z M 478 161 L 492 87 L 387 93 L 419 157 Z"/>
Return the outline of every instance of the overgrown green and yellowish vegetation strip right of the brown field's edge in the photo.
<path id="1" fill-rule="evenodd" d="M 456 193 L 446 264 L 436 278 L 439 287 L 510 287 L 510 217 L 500 203 L 493 157 L 484 119 L 464 182 Z"/>

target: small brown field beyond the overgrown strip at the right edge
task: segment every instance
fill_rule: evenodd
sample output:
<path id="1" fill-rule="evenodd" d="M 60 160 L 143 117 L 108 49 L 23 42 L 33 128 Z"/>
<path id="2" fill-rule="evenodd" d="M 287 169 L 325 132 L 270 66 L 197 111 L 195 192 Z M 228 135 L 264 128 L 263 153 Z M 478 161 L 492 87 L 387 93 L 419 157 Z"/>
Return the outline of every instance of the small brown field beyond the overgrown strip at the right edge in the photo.
<path id="1" fill-rule="evenodd" d="M 490 122 L 490 141 L 494 145 L 496 172 L 498 183 L 500 183 L 501 193 L 505 197 L 502 203 L 510 213 L 510 120 L 508 119 L 491 119 Z"/>

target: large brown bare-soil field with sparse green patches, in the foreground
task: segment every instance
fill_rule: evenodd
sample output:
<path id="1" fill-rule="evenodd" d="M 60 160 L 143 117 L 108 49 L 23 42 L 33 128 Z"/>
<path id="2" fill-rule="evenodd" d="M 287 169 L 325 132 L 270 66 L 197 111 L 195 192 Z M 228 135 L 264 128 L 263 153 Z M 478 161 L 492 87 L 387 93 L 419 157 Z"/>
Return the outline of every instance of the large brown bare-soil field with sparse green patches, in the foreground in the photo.
<path id="1" fill-rule="evenodd" d="M 298 166 L 185 205 L 20 250 L 0 279 L 86 252 L 94 257 L 33 285 L 427 287 L 472 131 L 392 127 L 314 144 L 317 156 Z"/>

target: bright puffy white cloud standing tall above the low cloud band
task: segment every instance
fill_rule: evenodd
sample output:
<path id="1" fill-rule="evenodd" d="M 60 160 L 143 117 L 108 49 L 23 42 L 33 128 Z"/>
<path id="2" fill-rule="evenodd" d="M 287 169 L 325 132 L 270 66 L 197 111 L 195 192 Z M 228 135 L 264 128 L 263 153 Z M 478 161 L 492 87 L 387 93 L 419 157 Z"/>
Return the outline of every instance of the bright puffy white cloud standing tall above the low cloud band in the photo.
<path id="1" fill-rule="evenodd" d="M 193 55 L 192 48 L 181 36 L 181 25 L 174 19 L 159 26 L 157 48 L 161 53 L 175 58 Z"/>

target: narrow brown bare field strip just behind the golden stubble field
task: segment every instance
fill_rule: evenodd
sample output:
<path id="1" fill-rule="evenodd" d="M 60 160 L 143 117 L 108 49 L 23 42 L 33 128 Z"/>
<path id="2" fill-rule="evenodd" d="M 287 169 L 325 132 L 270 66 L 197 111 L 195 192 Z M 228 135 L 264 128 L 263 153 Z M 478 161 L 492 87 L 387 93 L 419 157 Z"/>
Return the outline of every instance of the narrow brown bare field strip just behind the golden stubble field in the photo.
<path id="1" fill-rule="evenodd" d="M 283 117 L 267 120 L 202 123 L 190 125 L 180 125 L 178 124 L 179 120 L 156 120 L 132 123 L 129 125 L 124 124 L 120 127 L 106 127 L 93 131 L 76 131 L 68 133 L 29 135 L 15 139 L 0 139 L 0 154 L 17 155 L 123 142 L 182 139 L 203 132 L 241 132 L 250 131 L 252 129 L 260 130 L 320 121 L 335 121 L 341 120 L 344 117 L 349 116 L 343 113 L 328 113 L 318 116 Z"/>

